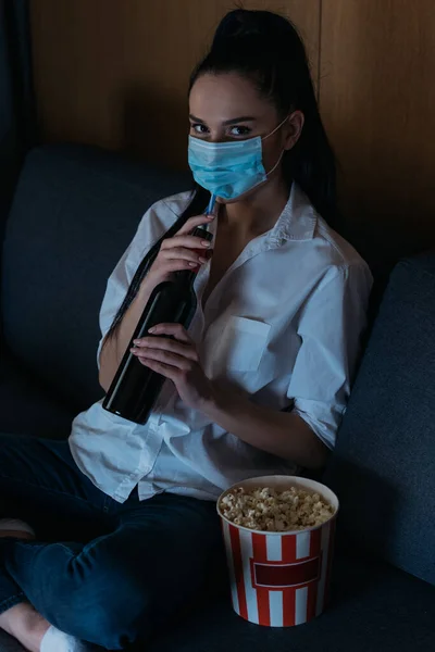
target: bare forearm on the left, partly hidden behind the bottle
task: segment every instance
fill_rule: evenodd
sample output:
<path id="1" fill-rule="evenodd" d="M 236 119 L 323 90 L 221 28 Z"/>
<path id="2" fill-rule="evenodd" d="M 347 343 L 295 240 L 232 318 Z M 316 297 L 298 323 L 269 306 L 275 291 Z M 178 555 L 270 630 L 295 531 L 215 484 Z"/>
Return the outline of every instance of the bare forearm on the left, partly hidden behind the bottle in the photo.
<path id="1" fill-rule="evenodd" d="M 120 327 L 108 337 L 103 343 L 100 353 L 100 385 L 104 391 L 108 391 L 114 375 L 120 366 L 120 362 L 127 350 L 140 315 L 150 298 L 152 287 L 147 281 L 141 285 L 135 300 L 126 311 Z"/>

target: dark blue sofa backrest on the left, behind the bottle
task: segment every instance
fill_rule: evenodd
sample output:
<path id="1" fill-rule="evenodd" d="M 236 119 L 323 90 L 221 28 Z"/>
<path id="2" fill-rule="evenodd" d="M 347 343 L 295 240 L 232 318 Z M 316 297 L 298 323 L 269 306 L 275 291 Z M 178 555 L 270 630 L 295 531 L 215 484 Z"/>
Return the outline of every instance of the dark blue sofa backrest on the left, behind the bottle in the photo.
<path id="1" fill-rule="evenodd" d="M 101 398 L 96 351 L 105 284 L 146 210 L 191 186 L 82 146 L 27 156 L 7 223 L 3 337 L 72 408 Z"/>

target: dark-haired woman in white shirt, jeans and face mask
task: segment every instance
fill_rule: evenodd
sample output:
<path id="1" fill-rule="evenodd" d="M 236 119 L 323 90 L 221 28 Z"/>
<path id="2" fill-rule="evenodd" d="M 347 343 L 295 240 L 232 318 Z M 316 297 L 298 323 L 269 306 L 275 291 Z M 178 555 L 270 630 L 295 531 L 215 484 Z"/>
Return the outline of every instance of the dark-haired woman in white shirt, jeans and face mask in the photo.
<path id="1" fill-rule="evenodd" d="M 162 324 L 132 349 L 171 383 L 145 426 L 97 403 L 69 444 L 2 437 L 3 494 L 27 523 L 2 523 L 0 626 L 32 652 L 150 636 L 200 586 L 220 492 L 322 468 L 345 410 L 371 275 L 332 229 L 334 156 L 295 28 L 231 12 L 189 104 L 198 187 L 148 211 L 101 309 L 107 390 L 156 285 L 201 265 L 189 333 Z M 204 216 L 210 192 L 219 208 Z M 201 224 L 212 255 L 189 235 Z M 99 536 L 35 541 L 59 513 L 71 538 L 79 522 Z"/>

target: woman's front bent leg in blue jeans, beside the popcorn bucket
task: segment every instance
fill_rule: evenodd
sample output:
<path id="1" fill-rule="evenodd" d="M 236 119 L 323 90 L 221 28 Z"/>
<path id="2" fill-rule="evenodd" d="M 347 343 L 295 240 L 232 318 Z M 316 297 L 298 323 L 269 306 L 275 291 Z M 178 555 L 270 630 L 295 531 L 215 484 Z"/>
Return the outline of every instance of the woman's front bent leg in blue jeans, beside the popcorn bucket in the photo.
<path id="1" fill-rule="evenodd" d="M 152 636 L 186 606 L 216 559 L 214 504 L 161 494 L 122 506 L 115 531 L 88 544 L 17 542 L 10 576 L 59 629 L 109 650 Z"/>

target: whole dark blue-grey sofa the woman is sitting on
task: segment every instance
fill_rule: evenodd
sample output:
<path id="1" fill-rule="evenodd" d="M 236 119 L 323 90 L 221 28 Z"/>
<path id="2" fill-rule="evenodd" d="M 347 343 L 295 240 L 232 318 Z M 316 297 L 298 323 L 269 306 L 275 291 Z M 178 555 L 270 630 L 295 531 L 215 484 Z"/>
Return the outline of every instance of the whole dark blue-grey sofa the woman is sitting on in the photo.
<path id="1" fill-rule="evenodd" d="M 2 255 L 0 430 L 67 437 L 101 397 L 98 311 L 146 209 L 184 175 L 78 146 L 27 156 Z M 341 513 L 328 611 L 268 629 L 209 590 L 147 652 L 426 652 L 435 647 L 435 254 L 398 264 L 324 480 Z M 0 651 L 21 650 L 0 634 Z"/>

